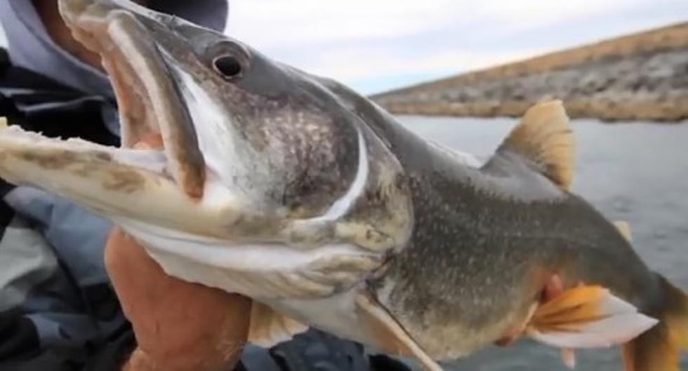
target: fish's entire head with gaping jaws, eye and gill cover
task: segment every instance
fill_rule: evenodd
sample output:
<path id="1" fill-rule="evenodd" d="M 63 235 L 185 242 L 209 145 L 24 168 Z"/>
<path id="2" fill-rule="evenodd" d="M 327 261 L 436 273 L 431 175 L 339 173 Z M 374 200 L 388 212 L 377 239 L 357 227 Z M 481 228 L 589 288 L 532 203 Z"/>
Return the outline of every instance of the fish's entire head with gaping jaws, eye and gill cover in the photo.
<path id="1" fill-rule="evenodd" d="M 59 4 L 110 75 L 122 146 L 6 128 L 4 179 L 109 218 L 169 274 L 253 297 L 345 290 L 405 245 L 401 166 L 318 78 L 131 1 Z M 151 133 L 160 148 L 135 146 Z"/>

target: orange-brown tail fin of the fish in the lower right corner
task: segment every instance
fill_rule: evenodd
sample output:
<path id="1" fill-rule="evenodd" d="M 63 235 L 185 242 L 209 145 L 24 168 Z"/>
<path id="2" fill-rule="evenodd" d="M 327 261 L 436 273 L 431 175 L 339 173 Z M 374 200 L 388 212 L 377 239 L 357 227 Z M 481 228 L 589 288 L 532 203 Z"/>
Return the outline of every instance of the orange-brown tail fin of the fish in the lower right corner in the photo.
<path id="1" fill-rule="evenodd" d="M 657 276 L 661 302 L 648 315 L 659 323 L 623 345 L 626 371 L 680 371 L 680 352 L 688 350 L 688 296 Z"/>

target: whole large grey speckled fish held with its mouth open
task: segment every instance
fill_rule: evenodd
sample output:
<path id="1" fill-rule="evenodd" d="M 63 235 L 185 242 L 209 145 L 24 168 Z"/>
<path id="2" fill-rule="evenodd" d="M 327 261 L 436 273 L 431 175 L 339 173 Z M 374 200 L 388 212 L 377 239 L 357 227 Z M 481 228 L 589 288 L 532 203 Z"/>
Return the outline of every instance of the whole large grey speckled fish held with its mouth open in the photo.
<path id="1" fill-rule="evenodd" d="M 678 370 L 688 297 L 571 191 L 562 102 L 476 163 L 230 36 L 126 0 L 58 4 L 110 76 L 121 147 L 10 126 L 0 176 L 112 220 L 171 276 L 251 297 L 249 342 L 313 326 L 437 371 L 531 338 L 569 366 L 618 345 L 628 371 Z"/>

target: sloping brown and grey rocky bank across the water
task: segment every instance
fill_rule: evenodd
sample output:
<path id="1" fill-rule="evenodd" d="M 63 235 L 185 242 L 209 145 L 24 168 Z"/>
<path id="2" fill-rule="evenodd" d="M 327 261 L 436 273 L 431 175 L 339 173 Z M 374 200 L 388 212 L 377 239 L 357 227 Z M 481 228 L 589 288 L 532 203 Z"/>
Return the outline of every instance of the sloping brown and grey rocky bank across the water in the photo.
<path id="1" fill-rule="evenodd" d="M 688 22 L 373 95 L 395 114 L 520 116 L 560 98 L 569 116 L 688 119 Z"/>

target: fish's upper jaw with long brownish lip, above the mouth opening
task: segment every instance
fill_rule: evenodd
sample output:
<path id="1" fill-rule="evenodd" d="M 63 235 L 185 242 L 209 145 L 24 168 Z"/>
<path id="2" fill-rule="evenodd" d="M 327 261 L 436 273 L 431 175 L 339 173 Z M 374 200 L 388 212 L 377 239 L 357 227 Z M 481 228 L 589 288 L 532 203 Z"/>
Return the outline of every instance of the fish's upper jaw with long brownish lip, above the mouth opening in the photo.
<path id="1" fill-rule="evenodd" d="M 154 12 L 129 1 L 65 0 L 60 13 L 74 37 L 102 57 L 121 117 L 122 144 L 131 147 L 160 133 L 168 174 L 192 198 L 204 191 L 205 164 L 183 99 L 137 13 Z"/>

